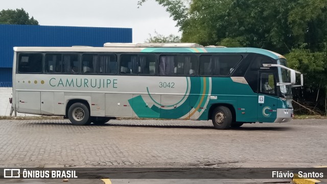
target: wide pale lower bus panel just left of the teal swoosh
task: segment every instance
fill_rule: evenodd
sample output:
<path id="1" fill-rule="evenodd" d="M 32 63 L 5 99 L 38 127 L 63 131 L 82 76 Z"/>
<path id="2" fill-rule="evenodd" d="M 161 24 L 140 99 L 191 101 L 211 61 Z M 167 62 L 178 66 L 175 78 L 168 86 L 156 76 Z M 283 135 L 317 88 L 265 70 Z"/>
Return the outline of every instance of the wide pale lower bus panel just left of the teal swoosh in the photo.
<path id="1" fill-rule="evenodd" d="M 128 102 L 132 94 L 106 94 L 106 116 L 132 117 L 133 110 Z"/>

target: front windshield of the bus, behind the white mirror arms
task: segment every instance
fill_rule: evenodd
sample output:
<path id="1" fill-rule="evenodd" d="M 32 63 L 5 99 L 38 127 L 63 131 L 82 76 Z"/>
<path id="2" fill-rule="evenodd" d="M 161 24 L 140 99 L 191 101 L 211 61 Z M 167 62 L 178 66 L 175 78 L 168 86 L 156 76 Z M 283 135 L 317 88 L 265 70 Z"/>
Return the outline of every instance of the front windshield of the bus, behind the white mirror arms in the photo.
<path id="1" fill-rule="evenodd" d="M 277 64 L 287 66 L 285 59 L 278 59 Z M 279 77 L 280 83 L 290 83 L 291 82 L 289 71 L 284 68 L 278 67 L 278 77 Z M 292 95 L 291 85 L 281 85 L 280 88 L 281 88 L 282 95 L 284 97 Z"/>

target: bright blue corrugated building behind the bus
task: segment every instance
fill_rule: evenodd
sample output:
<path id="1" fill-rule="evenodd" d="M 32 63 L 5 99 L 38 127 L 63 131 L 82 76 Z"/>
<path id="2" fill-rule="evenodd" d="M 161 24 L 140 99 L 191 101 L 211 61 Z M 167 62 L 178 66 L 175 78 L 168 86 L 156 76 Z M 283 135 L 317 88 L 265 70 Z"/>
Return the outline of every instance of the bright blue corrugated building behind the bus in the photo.
<path id="1" fill-rule="evenodd" d="M 0 87 L 12 86 L 13 47 L 103 47 L 132 42 L 131 28 L 0 25 Z"/>

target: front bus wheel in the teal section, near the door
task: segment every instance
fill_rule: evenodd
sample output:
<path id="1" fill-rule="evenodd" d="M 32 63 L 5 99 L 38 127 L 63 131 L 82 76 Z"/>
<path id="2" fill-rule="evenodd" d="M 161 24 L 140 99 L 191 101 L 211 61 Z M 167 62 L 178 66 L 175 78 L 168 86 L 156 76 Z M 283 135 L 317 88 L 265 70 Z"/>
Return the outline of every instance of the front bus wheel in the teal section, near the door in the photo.
<path id="1" fill-rule="evenodd" d="M 231 125 L 232 117 L 229 108 L 218 106 L 212 113 L 214 127 L 219 130 L 228 129 Z"/>

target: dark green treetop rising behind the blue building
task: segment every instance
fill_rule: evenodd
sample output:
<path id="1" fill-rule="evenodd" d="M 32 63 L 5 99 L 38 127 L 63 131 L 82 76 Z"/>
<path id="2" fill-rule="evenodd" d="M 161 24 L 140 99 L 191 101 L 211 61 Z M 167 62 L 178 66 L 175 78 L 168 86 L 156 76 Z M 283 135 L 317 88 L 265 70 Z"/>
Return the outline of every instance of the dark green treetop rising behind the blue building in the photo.
<path id="1" fill-rule="evenodd" d="M 24 9 L 2 10 L 0 11 L 0 24 L 10 25 L 39 25 L 39 22 Z"/>

